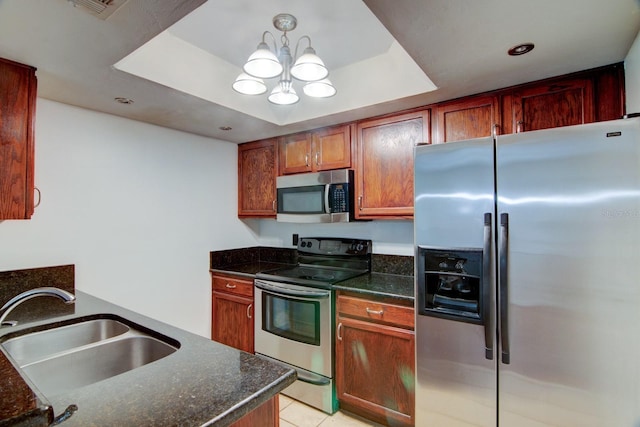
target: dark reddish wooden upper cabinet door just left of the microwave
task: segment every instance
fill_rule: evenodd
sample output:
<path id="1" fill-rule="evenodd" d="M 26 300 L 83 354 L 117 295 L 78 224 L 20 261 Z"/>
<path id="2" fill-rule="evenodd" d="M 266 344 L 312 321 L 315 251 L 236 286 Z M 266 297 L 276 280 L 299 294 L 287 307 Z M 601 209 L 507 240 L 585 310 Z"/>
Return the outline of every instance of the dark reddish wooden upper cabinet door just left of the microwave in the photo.
<path id="1" fill-rule="evenodd" d="M 276 216 L 276 140 L 238 146 L 238 217 Z"/>

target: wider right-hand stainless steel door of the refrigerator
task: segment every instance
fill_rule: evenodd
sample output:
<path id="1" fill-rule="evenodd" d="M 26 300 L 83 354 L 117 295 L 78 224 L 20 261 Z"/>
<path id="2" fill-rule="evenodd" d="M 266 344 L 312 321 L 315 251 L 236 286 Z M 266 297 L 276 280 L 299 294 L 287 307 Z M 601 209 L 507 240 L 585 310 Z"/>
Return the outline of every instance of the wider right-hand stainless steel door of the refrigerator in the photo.
<path id="1" fill-rule="evenodd" d="M 640 425 L 638 125 L 498 138 L 500 426 Z"/>

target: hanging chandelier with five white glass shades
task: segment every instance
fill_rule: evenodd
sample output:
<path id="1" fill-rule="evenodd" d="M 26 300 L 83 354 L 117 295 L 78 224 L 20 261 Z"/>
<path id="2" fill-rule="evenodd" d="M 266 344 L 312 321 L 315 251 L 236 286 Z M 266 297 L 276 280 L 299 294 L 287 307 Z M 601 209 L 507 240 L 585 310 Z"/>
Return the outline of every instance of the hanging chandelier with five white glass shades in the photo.
<path id="1" fill-rule="evenodd" d="M 314 98 L 326 98 L 336 94 L 336 89 L 327 78 L 329 70 L 322 59 L 311 47 L 311 38 L 302 36 L 296 43 L 294 56 L 291 56 L 287 32 L 296 28 L 295 16 L 280 13 L 273 17 L 273 26 L 282 31 L 280 38 L 282 47 L 278 50 L 276 39 L 272 33 L 265 31 L 262 41 L 242 67 L 242 73 L 236 78 L 232 87 L 244 95 L 261 95 L 267 91 L 263 79 L 280 77 L 269 95 L 269 101 L 278 105 L 295 104 L 300 99 L 293 87 L 293 78 L 304 82 L 303 92 Z M 273 52 L 266 43 L 267 34 L 273 39 Z M 302 40 L 309 42 L 302 55 L 298 57 L 298 47 Z M 275 52 L 275 53 L 274 53 Z M 294 58 L 295 62 L 294 62 Z"/>

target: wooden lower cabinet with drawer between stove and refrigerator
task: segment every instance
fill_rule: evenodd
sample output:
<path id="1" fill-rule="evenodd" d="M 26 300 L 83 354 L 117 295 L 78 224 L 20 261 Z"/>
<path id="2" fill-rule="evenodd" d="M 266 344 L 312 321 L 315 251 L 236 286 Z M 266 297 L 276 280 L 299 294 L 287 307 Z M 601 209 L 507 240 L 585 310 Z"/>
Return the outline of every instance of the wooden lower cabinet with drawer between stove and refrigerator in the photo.
<path id="1" fill-rule="evenodd" d="M 340 407 L 385 425 L 414 425 L 413 308 L 339 294 L 336 310 Z"/>

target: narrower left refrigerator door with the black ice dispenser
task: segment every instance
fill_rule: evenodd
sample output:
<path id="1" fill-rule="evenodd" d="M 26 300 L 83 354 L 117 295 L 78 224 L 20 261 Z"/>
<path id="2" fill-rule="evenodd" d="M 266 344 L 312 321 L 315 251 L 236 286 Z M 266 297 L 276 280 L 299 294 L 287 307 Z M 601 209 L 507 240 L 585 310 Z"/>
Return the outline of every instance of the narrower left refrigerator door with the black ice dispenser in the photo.
<path id="1" fill-rule="evenodd" d="M 491 227 L 485 227 L 485 214 L 490 214 L 489 225 L 493 218 L 493 170 L 490 138 L 416 148 L 417 302 L 420 300 L 419 276 L 424 277 L 425 269 L 438 267 L 428 264 L 429 254 L 447 253 L 451 259 L 471 259 L 469 254 L 480 249 L 489 257 L 490 264 L 482 269 L 483 276 L 487 273 L 483 285 L 489 286 L 484 303 L 488 311 L 493 312 L 493 238 Z M 438 252 L 438 248 L 442 251 Z M 420 260 L 427 265 L 421 265 Z M 454 269 L 456 263 L 455 260 L 450 263 Z M 450 267 L 443 265 L 442 268 Z M 455 274 L 454 271 L 446 276 L 455 278 Z M 433 306 L 443 307 L 442 304 Z M 461 311 L 457 308 L 435 315 L 427 303 L 424 308 L 416 310 L 416 426 L 495 427 L 496 358 L 487 359 L 485 348 L 485 332 L 489 332 L 491 341 L 495 316 L 488 312 L 480 322 L 473 316 L 473 308 L 462 310 L 468 312 L 462 316 L 454 313 Z M 425 314 L 419 314 L 420 311 Z"/>

